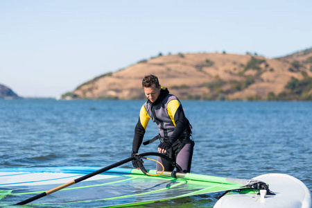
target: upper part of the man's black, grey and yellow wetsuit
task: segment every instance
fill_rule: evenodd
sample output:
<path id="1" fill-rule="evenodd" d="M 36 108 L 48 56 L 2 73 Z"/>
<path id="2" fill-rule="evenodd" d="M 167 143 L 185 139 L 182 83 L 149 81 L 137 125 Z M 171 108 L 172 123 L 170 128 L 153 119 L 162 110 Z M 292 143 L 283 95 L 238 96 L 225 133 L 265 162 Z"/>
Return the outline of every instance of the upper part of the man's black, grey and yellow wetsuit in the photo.
<path id="1" fill-rule="evenodd" d="M 167 154 L 169 157 L 175 159 L 185 144 L 193 144 L 190 139 L 191 125 L 184 115 L 180 101 L 173 94 L 169 94 L 168 89 L 162 88 L 154 103 L 148 100 L 141 107 L 139 121 L 135 127 L 132 152 L 138 153 L 150 119 L 159 128 L 162 141 L 168 139 L 173 144 L 173 148 Z M 191 151 L 193 153 L 193 148 Z"/>

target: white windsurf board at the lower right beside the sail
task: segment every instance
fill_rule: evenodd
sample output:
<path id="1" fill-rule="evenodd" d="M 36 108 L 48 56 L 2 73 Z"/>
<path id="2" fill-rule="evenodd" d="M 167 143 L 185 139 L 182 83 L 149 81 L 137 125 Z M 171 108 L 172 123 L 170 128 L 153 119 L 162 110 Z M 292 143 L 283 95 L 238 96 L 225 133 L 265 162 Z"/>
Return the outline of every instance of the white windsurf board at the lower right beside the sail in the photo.
<path id="1" fill-rule="evenodd" d="M 276 195 L 231 191 L 220 198 L 214 208 L 311 208 L 311 191 L 297 178 L 270 173 L 253 179 L 269 184 L 270 191 Z"/>

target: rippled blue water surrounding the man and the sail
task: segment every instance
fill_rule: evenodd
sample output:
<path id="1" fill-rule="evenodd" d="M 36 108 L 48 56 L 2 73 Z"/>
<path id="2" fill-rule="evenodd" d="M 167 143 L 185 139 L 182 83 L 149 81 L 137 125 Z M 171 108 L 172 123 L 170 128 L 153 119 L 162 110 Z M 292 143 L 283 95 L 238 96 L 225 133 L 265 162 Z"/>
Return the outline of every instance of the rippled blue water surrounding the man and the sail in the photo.
<path id="1" fill-rule="evenodd" d="M 108 166 L 130 157 L 143 103 L 0 100 L 0 168 Z M 242 178 L 286 173 L 312 190 L 311 102 L 182 101 L 182 105 L 196 140 L 192 173 Z M 155 135 L 157 128 L 150 122 L 145 139 Z M 140 151 L 156 149 L 157 142 Z M 218 196 L 145 207 L 212 207 Z"/>

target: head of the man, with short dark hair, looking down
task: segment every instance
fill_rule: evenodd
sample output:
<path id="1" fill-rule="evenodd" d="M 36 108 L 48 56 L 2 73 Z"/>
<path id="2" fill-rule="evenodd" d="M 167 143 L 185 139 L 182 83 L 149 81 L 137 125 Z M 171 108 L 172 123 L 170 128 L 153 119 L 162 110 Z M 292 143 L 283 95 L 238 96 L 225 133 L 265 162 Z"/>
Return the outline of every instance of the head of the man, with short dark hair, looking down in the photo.
<path id="1" fill-rule="evenodd" d="M 153 74 L 145 76 L 142 80 L 142 87 L 148 100 L 154 103 L 157 100 L 161 89 L 157 76 L 154 76 Z"/>

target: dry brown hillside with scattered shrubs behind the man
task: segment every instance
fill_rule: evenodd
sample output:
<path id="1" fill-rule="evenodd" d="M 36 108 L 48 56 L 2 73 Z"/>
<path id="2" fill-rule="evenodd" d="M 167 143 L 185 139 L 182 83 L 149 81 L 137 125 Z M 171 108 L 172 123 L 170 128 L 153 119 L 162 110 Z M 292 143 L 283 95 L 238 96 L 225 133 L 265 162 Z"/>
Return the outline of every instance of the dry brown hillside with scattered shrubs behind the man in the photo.
<path id="1" fill-rule="evenodd" d="M 63 97 L 145 98 L 141 79 L 150 73 L 181 99 L 298 99 L 285 94 L 293 93 L 290 82 L 312 77 L 312 49 L 277 59 L 226 53 L 159 55 L 98 76 Z M 304 93 L 312 96 L 312 90 Z"/>

